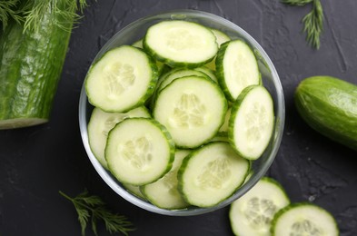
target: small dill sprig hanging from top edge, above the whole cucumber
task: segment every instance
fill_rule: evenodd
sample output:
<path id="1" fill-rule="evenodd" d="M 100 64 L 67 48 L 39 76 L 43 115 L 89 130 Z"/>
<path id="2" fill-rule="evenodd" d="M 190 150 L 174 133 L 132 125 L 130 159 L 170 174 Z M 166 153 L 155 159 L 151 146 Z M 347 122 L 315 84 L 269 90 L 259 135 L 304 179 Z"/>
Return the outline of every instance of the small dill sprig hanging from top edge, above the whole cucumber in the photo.
<path id="1" fill-rule="evenodd" d="M 314 48 L 320 48 L 320 36 L 323 30 L 323 10 L 320 0 L 282 0 L 286 5 L 303 6 L 312 4 L 312 10 L 302 18 L 306 41 Z"/>

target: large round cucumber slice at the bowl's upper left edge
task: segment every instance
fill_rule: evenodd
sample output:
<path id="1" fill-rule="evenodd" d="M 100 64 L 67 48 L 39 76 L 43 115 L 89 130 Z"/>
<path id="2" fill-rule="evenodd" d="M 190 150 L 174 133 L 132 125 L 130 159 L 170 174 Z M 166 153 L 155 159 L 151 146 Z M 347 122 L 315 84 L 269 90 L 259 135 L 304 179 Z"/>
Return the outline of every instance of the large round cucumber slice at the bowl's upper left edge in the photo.
<path id="1" fill-rule="evenodd" d="M 157 66 L 143 50 L 123 45 L 108 51 L 85 79 L 88 101 L 105 112 L 126 112 L 154 93 Z"/>

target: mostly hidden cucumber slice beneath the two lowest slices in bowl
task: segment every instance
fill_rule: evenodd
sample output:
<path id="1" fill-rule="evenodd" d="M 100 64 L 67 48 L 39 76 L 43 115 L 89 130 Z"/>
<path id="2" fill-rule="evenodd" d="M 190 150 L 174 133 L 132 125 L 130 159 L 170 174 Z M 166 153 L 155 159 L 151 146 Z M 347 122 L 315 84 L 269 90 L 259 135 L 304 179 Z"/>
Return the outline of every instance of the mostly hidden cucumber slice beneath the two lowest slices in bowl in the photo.
<path id="1" fill-rule="evenodd" d="M 142 186 L 141 190 L 149 202 L 164 209 L 177 210 L 189 206 L 183 200 L 177 187 L 177 172 L 185 158 L 191 151 L 176 150 L 174 155 L 174 164 L 170 172 L 167 172 L 163 178 L 157 182 L 149 183 Z"/>

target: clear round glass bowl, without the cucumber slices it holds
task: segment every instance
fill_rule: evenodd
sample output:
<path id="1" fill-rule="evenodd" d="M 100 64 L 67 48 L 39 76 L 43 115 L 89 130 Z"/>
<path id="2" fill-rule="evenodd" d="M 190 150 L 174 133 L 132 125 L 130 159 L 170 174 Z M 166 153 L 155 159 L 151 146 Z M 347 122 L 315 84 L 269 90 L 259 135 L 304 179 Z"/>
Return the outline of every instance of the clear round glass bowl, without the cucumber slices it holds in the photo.
<path id="1" fill-rule="evenodd" d="M 236 199 L 243 196 L 245 192 L 248 192 L 253 185 L 258 182 L 263 175 L 268 171 L 269 167 L 273 163 L 273 160 L 278 152 L 282 136 L 283 136 L 283 126 L 285 119 L 285 106 L 283 98 L 283 88 L 272 61 L 269 56 L 264 52 L 262 46 L 258 44 L 250 34 L 247 34 L 241 27 L 234 25 L 232 22 L 209 13 L 196 11 L 196 10 L 177 10 L 164 12 L 158 15 L 150 15 L 141 18 L 134 23 L 127 25 L 117 34 L 104 44 L 100 52 L 95 56 L 94 62 L 101 58 L 101 56 L 108 50 L 117 47 L 122 44 L 134 44 L 134 42 L 140 40 L 144 36 L 146 29 L 163 20 L 179 19 L 187 20 L 192 22 L 197 22 L 201 25 L 206 25 L 218 30 L 223 31 L 228 34 L 232 39 L 243 39 L 247 44 L 253 48 L 253 52 L 258 60 L 258 66 L 262 74 L 262 81 L 265 88 L 271 93 L 273 97 L 274 113 L 275 113 L 275 128 L 273 137 L 263 156 L 258 160 L 254 161 L 252 164 L 252 176 L 239 188 L 234 194 L 219 204 L 210 208 L 198 208 L 192 207 L 183 210 L 164 210 L 154 206 L 150 202 L 145 202 L 144 200 L 136 197 L 132 193 L 126 191 L 123 185 L 116 181 L 114 176 L 104 169 L 104 167 L 96 160 L 93 152 L 88 143 L 87 136 L 87 123 L 89 122 L 90 115 L 93 111 L 93 106 L 88 103 L 88 99 L 85 93 L 84 85 L 80 94 L 79 101 L 79 126 L 82 135 L 82 140 L 84 143 L 85 151 L 88 154 L 90 161 L 92 162 L 96 172 L 103 178 L 104 182 L 108 184 L 114 192 L 123 197 L 126 201 L 133 203 L 134 205 L 146 210 L 152 211 L 164 215 L 176 215 L 176 216 L 188 216 L 188 215 L 198 215 L 210 211 L 215 211 L 221 209 Z M 93 63 L 94 63 L 93 62 Z"/>

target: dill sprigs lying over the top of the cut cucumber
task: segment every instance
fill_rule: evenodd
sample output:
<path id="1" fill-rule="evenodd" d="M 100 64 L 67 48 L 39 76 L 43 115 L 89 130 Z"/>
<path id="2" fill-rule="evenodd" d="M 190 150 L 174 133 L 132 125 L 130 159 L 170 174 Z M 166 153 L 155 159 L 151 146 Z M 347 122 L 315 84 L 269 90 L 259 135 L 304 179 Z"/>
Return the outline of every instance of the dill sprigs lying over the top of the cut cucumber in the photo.
<path id="1" fill-rule="evenodd" d="M 44 17 L 52 17 L 52 21 L 60 28 L 71 31 L 72 24 L 81 17 L 86 6 L 85 0 L 6 0 L 0 3 L 0 20 L 3 29 L 10 19 L 15 19 L 17 23 L 24 24 L 24 30 L 37 31 L 41 27 Z M 61 20 L 56 20 L 55 15 L 61 15 Z"/>

